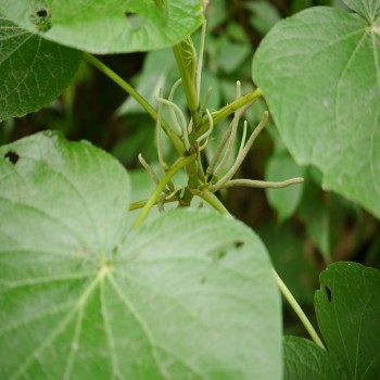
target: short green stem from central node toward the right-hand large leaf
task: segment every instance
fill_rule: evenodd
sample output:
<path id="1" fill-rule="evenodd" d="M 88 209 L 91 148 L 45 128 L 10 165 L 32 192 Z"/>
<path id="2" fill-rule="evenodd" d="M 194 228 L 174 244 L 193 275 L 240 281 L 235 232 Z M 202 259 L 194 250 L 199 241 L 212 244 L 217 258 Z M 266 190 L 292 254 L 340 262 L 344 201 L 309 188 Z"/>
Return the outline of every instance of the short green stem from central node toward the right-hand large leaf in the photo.
<path id="1" fill-rule="evenodd" d="M 253 102 L 254 100 L 258 99 L 263 96 L 262 89 L 256 88 L 254 91 L 251 91 L 249 93 L 245 93 L 244 96 L 240 97 L 239 99 L 235 100 L 231 103 L 228 103 L 224 107 L 221 107 L 218 111 L 212 112 L 211 116 L 213 117 L 214 125 L 227 116 L 233 114 L 236 111 L 244 106 L 245 104 Z M 210 128 L 210 119 L 207 115 L 202 117 L 201 121 L 201 128 L 197 131 L 197 139 L 202 136 L 204 132 L 206 132 Z"/>

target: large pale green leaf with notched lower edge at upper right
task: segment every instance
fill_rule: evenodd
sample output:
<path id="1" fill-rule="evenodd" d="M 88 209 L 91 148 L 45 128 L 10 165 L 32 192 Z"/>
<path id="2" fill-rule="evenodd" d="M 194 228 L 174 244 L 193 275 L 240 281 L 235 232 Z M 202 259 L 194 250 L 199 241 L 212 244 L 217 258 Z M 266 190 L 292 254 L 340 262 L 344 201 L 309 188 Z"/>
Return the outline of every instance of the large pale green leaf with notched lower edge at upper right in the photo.
<path id="1" fill-rule="evenodd" d="M 313 8 L 279 23 L 255 54 L 253 78 L 296 161 L 379 217 L 379 1 L 347 4 L 367 16 Z"/>

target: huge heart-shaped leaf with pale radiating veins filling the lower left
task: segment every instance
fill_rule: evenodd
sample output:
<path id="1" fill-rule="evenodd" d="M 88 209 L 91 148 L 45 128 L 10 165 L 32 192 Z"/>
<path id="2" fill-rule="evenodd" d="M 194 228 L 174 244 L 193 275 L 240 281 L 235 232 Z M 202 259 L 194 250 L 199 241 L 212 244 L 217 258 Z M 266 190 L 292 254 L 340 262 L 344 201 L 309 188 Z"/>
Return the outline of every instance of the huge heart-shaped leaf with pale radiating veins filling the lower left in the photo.
<path id="1" fill-rule="evenodd" d="M 0 149 L 0 378 L 280 379 L 258 238 L 199 210 L 127 232 L 128 183 L 60 135 Z"/>

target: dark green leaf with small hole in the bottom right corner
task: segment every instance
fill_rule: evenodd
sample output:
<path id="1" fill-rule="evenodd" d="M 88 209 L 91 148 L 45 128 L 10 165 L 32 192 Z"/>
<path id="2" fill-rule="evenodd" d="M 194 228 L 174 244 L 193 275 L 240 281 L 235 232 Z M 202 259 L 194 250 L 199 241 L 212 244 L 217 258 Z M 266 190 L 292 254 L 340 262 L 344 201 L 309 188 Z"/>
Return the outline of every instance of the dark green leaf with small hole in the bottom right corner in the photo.
<path id="1" fill-rule="evenodd" d="M 315 294 L 319 328 L 349 379 L 380 373 L 380 270 L 356 263 L 331 264 Z"/>

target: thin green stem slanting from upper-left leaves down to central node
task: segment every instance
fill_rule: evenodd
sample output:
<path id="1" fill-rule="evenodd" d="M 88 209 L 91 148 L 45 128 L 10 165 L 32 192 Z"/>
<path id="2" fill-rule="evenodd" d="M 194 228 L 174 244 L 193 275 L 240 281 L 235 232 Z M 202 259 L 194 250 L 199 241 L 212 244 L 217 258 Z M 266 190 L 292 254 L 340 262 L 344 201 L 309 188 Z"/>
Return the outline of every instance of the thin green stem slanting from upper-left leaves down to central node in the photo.
<path id="1" fill-rule="evenodd" d="M 122 87 L 125 91 L 127 91 L 131 97 L 136 99 L 136 101 L 147 111 L 147 113 L 154 119 L 157 121 L 157 113 L 152 107 L 152 105 L 143 98 L 139 92 L 137 92 L 134 87 L 131 87 L 126 80 L 124 80 L 121 76 L 118 76 L 115 72 L 113 72 L 109 66 L 99 61 L 97 58 L 91 55 L 90 53 L 85 52 L 84 56 L 87 62 L 97 67 L 103 74 L 105 74 L 110 79 L 112 79 L 115 84 Z M 173 145 L 175 147 L 177 153 L 182 155 L 185 152 L 183 143 L 180 138 L 173 131 L 167 122 L 162 119 L 162 128 L 165 134 L 172 140 Z"/>

